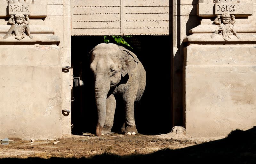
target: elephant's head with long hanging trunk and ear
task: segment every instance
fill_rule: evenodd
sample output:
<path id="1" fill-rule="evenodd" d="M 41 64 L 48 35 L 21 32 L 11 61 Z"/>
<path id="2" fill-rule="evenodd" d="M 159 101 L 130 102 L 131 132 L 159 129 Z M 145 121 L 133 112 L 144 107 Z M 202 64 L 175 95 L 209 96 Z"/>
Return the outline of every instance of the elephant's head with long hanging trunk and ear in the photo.
<path id="1" fill-rule="evenodd" d="M 95 77 L 95 98 L 98 110 L 96 135 L 106 120 L 106 99 L 110 87 L 115 87 L 121 78 L 129 74 L 139 63 L 137 56 L 124 47 L 116 44 L 101 43 L 90 52 L 91 69 Z"/>

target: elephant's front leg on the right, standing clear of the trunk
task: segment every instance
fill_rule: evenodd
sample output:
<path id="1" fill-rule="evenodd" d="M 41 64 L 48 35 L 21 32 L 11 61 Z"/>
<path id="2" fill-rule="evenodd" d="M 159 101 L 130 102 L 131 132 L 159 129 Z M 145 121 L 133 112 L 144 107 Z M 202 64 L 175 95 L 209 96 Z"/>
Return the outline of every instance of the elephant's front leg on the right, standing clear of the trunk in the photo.
<path id="1" fill-rule="evenodd" d="M 125 99 L 125 130 L 124 134 L 135 135 L 138 133 L 134 120 L 134 100 L 135 96 L 129 96 Z"/>

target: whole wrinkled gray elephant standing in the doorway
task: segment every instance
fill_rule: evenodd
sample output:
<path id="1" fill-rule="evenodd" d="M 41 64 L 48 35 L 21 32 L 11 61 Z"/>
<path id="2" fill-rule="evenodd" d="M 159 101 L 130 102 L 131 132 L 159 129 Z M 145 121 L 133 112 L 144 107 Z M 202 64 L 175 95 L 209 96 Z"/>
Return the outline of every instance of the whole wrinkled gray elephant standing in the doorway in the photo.
<path id="1" fill-rule="evenodd" d="M 125 103 L 124 134 L 137 134 L 134 101 L 140 100 L 146 86 L 146 71 L 137 56 L 116 44 L 98 44 L 90 52 L 95 77 L 95 98 L 98 110 L 96 135 L 111 133 L 116 109 L 115 94 Z"/>

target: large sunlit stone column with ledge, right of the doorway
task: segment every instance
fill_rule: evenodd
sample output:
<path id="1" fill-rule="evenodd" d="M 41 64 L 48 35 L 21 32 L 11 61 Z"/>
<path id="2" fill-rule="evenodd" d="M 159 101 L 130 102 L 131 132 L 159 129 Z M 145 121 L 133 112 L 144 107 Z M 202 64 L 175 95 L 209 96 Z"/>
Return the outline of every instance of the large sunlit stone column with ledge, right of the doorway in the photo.
<path id="1" fill-rule="evenodd" d="M 200 25 L 184 42 L 187 134 L 225 136 L 256 125 L 256 27 L 252 1 L 199 0 Z"/>

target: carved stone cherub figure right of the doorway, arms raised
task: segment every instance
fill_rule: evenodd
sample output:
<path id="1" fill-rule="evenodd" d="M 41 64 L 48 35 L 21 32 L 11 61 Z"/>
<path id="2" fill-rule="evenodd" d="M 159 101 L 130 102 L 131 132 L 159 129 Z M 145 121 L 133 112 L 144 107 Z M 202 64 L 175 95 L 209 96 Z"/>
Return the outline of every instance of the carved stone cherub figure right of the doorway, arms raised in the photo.
<path id="1" fill-rule="evenodd" d="M 220 26 L 218 30 L 214 31 L 214 33 L 211 35 L 211 38 L 214 38 L 218 34 L 222 35 L 225 41 L 228 41 L 232 35 L 235 35 L 237 38 L 239 38 L 237 36 L 236 31 L 233 30 L 235 22 L 235 15 L 230 16 L 230 14 L 228 13 L 217 15 L 217 18 L 215 18 L 214 23 Z"/>

